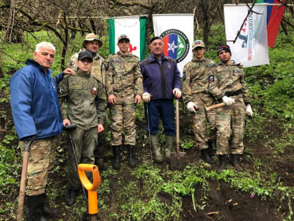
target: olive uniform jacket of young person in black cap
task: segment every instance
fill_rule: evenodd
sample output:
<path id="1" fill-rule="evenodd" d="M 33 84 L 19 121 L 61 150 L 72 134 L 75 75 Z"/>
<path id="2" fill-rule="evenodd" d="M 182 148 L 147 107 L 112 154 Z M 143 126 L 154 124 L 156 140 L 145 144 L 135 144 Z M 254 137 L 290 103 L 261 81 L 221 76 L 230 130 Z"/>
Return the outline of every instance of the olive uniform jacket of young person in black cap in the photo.
<path id="1" fill-rule="evenodd" d="M 78 70 L 76 76 L 64 75 L 58 91 L 62 119 L 69 119 L 83 130 L 104 123 L 106 96 L 102 84 L 90 74 Z"/>

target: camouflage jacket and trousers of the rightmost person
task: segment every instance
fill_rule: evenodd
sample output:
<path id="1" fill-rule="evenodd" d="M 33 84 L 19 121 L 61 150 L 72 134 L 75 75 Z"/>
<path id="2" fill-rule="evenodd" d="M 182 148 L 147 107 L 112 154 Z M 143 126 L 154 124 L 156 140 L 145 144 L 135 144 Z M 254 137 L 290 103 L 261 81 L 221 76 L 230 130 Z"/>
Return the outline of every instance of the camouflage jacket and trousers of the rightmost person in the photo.
<path id="1" fill-rule="evenodd" d="M 209 91 L 219 100 L 223 96 L 235 99 L 235 104 L 216 110 L 217 147 L 216 154 L 242 154 L 244 145 L 244 119 L 250 98 L 243 70 L 239 65 L 218 64 L 216 74 L 209 76 Z M 245 103 L 244 103 L 245 102 Z M 232 128 L 232 144 L 229 146 Z"/>

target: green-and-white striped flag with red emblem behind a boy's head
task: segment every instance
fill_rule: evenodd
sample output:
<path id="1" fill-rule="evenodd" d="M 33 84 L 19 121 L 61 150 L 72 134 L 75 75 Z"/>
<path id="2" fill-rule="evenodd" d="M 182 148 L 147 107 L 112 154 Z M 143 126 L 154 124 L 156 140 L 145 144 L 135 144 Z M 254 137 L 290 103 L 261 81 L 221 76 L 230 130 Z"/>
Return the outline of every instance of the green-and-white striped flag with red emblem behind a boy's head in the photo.
<path id="1" fill-rule="evenodd" d="M 146 16 L 134 15 L 110 18 L 109 22 L 109 53 L 119 51 L 118 37 L 125 34 L 130 37 L 130 53 L 137 55 L 140 60 L 145 58 Z"/>

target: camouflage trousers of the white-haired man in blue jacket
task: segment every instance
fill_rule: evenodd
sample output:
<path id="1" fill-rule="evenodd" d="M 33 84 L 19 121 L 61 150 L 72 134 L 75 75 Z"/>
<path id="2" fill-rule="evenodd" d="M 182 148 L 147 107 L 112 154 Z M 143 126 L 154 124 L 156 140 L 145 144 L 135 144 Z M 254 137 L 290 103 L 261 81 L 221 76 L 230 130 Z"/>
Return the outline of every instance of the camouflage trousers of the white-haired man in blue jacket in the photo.
<path id="1" fill-rule="evenodd" d="M 20 141 L 22 156 L 24 153 L 23 142 Z M 29 161 L 27 165 L 27 196 L 45 193 L 48 183 L 48 173 L 54 168 L 56 138 L 34 140 L 31 143 Z"/>

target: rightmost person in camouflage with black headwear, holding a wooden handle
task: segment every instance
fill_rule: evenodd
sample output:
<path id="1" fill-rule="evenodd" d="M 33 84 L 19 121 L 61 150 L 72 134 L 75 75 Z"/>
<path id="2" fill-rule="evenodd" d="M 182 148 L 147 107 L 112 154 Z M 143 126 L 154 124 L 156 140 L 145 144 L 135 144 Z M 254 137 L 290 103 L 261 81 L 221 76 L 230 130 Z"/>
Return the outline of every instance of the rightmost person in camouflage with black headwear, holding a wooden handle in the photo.
<path id="1" fill-rule="evenodd" d="M 216 110 L 216 127 L 218 147 L 216 154 L 219 157 L 218 173 L 225 168 L 227 155 L 237 171 L 241 171 L 239 155 L 243 154 L 244 119 L 245 114 L 253 115 L 246 81 L 241 64 L 231 60 L 230 46 L 218 47 L 218 67 L 216 74 L 209 76 L 209 91 L 218 100 L 223 100 L 225 106 Z M 232 140 L 230 130 L 232 129 Z"/>

